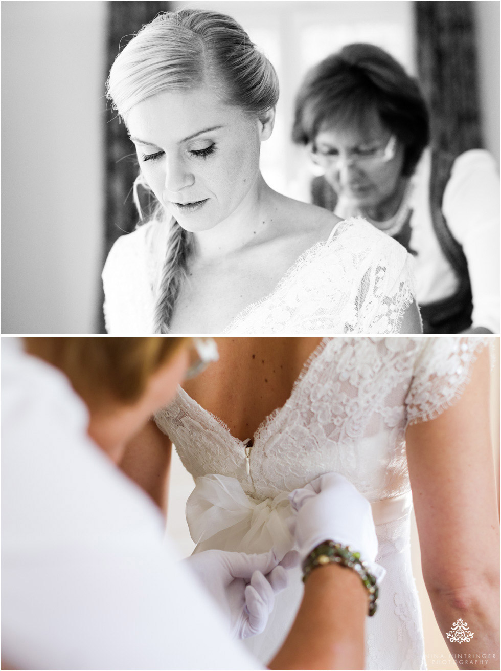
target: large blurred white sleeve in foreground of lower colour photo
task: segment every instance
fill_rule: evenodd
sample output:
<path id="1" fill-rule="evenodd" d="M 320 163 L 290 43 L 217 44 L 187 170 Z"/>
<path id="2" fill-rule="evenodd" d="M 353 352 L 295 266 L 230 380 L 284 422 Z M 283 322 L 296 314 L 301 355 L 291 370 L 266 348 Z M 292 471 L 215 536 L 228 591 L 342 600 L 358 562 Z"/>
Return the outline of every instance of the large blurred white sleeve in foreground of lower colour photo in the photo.
<path id="1" fill-rule="evenodd" d="M 68 382 L 2 342 L 2 392 L 3 660 L 262 668 L 165 544 L 153 503 L 86 437 Z"/>

